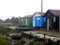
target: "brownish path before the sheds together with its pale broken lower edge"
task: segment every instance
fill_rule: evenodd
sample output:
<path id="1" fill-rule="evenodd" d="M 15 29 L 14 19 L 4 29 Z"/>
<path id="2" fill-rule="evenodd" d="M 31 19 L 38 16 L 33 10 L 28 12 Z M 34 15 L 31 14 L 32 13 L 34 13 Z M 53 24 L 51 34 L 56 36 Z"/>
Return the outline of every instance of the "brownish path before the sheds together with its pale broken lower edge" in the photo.
<path id="1" fill-rule="evenodd" d="M 47 39 L 51 39 L 53 41 L 57 41 L 60 40 L 60 32 L 56 32 L 56 31 L 47 31 L 47 30 L 35 30 L 35 31 L 23 31 L 23 33 L 26 34 L 32 34 L 32 36 L 37 36 L 38 38 L 44 38 L 44 34 L 45 34 L 45 38 Z"/>

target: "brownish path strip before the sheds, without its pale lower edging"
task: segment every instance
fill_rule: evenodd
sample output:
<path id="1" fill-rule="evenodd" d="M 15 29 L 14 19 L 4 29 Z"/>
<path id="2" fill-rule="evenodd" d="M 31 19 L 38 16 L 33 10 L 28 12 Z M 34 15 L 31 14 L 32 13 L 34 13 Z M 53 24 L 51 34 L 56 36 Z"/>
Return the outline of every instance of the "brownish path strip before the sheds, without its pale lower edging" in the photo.
<path id="1" fill-rule="evenodd" d="M 46 35 L 50 35 L 50 36 L 54 36 L 54 37 L 59 37 L 60 38 L 60 32 L 58 31 L 54 31 L 54 30 L 35 30 L 35 31 L 23 31 L 29 34 L 29 32 L 33 33 L 37 33 L 37 34 L 46 34 Z"/>

